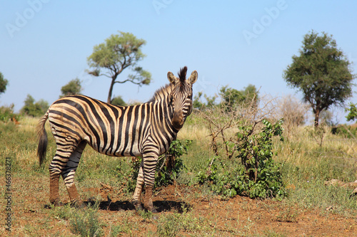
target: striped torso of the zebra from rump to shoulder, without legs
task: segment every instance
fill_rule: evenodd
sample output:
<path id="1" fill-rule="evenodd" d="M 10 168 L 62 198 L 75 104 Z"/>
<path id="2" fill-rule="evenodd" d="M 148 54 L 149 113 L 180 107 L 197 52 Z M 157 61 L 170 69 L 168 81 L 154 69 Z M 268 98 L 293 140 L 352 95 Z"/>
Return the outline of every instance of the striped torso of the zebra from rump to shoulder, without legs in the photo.
<path id="1" fill-rule="evenodd" d="M 102 154 L 139 156 L 142 142 L 149 135 L 151 104 L 114 106 L 71 95 L 49 107 L 49 122 L 57 143 L 86 141 Z"/>

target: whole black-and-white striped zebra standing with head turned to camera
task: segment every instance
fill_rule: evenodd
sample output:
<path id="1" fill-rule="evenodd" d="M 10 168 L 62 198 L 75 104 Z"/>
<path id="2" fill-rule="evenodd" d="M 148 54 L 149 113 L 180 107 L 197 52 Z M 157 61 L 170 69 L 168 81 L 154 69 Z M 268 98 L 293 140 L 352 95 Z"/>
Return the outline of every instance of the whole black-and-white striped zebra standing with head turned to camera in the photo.
<path id="1" fill-rule="evenodd" d="M 47 119 L 57 145 L 54 159 L 49 164 L 51 203 L 61 205 L 61 175 L 71 203 L 81 205 L 74 174 L 84 147 L 89 144 L 97 152 L 113 157 L 143 157 L 132 202 L 136 209 L 142 209 L 141 191 L 145 184 L 144 208 L 156 212 L 152 189 L 158 157 L 169 149 L 192 111 L 192 85 L 198 73 L 194 70 L 186 80 L 186 72 L 186 67 L 181 68 L 178 78 L 171 72 L 167 73 L 170 83 L 141 105 L 114 106 L 84 95 L 56 100 L 37 127 L 40 165 L 46 157 L 44 125 Z"/>

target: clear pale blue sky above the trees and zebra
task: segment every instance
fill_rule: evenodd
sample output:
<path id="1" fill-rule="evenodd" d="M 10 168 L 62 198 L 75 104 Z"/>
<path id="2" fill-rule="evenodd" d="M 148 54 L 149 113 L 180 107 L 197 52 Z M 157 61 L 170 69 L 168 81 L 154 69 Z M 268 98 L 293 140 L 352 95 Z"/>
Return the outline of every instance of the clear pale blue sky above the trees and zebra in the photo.
<path id="1" fill-rule="evenodd" d="M 74 78 L 85 95 L 106 101 L 109 78 L 86 74 L 86 58 L 118 31 L 146 40 L 139 65 L 154 79 L 141 88 L 116 84 L 114 95 L 126 102 L 149 100 L 168 83 L 166 73 L 184 65 L 198 71 L 194 93 L 253 84 L 261 95 L 301 98 L 282 74 L 312 29 L 333 35 L 356 74 L 357 1 L 0 0 L 0 6 L 0 72 L 9 80 L 0 105 L 14 103 L 15 110 L 28 94 L 51 104 Z"/>

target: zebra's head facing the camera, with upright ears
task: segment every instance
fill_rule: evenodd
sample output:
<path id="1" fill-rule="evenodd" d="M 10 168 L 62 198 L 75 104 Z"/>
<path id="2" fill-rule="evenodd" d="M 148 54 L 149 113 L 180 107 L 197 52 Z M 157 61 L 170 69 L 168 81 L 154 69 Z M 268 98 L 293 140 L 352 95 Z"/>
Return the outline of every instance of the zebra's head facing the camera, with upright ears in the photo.
<path id="1" fill-rule="evenodd" d="M 198 73 L 194 70 L 186 80 L 187 67 L 181 68 L 178 78 L 171 72 L 167 73 L 167 78 L 174 85 L 171 91 L 170 104 L 174 109 L 172 125 L 176 130 L 181 129 L 186 117 L 192 112 L 192 85 L 196 83 Z"/>

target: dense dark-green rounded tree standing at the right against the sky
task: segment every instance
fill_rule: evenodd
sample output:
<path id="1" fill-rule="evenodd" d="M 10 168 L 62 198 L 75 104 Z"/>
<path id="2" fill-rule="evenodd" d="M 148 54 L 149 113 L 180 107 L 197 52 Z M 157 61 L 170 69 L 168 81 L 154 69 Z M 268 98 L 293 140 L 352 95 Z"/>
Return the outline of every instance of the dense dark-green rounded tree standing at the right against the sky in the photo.
<path id="1" fill-rule="evenodd" d="M 351 73 L 351 63 L 327 33 L 307 33 L 299 52 L 300 56 L 293 56 L 293 63 L 284 70 L 283 78 L 303 92 L 303 100 L 311 105 L 318 127 L 321 111 L 331 105 L 343 106 L 351 97 L 355 75 Z"/>

